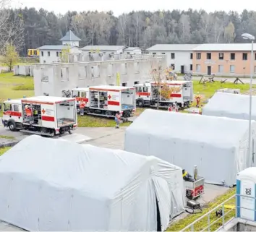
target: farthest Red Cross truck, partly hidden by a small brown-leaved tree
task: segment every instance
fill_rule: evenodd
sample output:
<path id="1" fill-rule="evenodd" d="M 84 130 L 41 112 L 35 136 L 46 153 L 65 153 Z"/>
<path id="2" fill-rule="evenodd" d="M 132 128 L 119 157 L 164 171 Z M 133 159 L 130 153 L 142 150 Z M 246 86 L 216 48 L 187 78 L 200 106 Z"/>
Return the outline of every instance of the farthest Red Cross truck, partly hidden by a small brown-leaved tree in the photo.
<path id="1" fill-rule="evenodd" d="M 145 82 L 135 85 L 137 106 L 155 106 L 158 100 L 157 84 L 156 82 Z M 161 83 L 161 86 L 163 85 L 168 85 L 176 91 L 171 94 L 171 98 L 164 99 L 161 97 L 160 90 L 160 106 L 171 106 L 176 103 L 179 108 L 188 108 L 192 103 L 194 98 L 192 81 L 166 81 Z"/>

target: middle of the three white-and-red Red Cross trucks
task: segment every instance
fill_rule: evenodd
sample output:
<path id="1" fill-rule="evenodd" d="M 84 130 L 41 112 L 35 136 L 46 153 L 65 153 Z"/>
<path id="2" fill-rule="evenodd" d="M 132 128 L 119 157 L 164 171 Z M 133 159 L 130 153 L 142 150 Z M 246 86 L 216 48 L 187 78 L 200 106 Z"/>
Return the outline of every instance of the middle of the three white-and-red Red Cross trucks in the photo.
<path id="1" fill-rule="evenodd" d="M 88 115 L 114 118 L 119 111 L 123 118 L 127 118 L 136 109 L 135 87 L 101 85 L 75 88 L 72 98 L 76 99 L 77 113 L 80 113 L 80 101 L 85 102 L 85 113 Z"/>

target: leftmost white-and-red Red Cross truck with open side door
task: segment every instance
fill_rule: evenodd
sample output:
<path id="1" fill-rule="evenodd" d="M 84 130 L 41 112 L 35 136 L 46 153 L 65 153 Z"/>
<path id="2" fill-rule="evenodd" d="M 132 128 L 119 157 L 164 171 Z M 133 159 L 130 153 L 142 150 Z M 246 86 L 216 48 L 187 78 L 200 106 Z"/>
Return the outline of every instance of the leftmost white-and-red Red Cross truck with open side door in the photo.
<path id="1" fill-rule="evenodd" d="M 32 116 L 27 116 L 29 108 Z M 77 127 L 75 98 L 32 97 L 19 100 L 6 100 L 2 123 L 14 132 L 61 135 Z"/>

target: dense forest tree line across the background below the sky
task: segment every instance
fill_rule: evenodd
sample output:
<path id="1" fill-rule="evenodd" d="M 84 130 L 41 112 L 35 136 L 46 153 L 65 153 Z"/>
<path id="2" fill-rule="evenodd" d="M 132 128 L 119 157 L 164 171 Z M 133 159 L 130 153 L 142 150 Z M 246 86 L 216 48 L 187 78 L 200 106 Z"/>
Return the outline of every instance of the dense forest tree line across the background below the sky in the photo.
<path id="1" fill-rule="evenodd" d="M 29 48 L 61 44 L 59 39 L 67 30 L 73 30 L 81 38 L 80 46 L 149 48 L 158 43 L 245 43 L 242 33 L 256 35 L 256 12 L 207 13 L 189 9 L 139 11 L 115 17 L 113 12 L 62 15 L 45 9 L 1 9 L 0 6 L 0 47 L 11 41 L 20 55 L 25 56 Z"/>

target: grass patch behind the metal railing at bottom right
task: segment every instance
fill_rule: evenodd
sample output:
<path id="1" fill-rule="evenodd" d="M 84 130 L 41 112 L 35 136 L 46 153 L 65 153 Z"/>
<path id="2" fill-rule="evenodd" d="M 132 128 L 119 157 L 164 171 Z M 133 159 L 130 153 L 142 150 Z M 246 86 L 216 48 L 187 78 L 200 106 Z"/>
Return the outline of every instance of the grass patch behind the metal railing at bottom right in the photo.
<path id="1" fill-rule="evenodd" d="M 197 220 L 198 218 L 200 218 L 202 215 L 209 212 L 210 210 L 213 210 L 215 207 L 217 207 L 222 202 L 232 197 L 234 194 L 236 194 L 236 189 L 232 188 L 228 192 L 226 192 L 226 194 L 216 197 L 216 199 L 214 199 L 212 202 L 209 202 L 207 205 L 203 206 L 202 213 L 188 215 L 187 217 L 171 224 L 171 226 L 166 231 L 181 231 L 187 225 L 193 223 L 195 220 Z M 225 205 L 234 206 L 235 198 L 230 199 L 228 202 L 226 202 Z M 228 212 L 229 210 L 230 209 L 225 209 L 224 211 Z M 229 212 L 225 216 L 225 222 L 233 218 L 235 216 L 235 212 L 236 212 L 235 209 L 231 210 L 231 212 Z M 216 210 L 214 210 L 214 212 L 210 213 L 210 223 L 213 223 L 217 219 L 218 218 L 216 217 Z M 210 226 L 210 231 L 216 231 L 219 227 L 221 227 L 221 225 L 222 225 L 222 218 L 220 218 L 216 223 Z M 195 223 L 194 231 L 202 231 L 207 226 L 208 226 L 208 217 L 204 217 L 202 218 L 202 220 L 199 220 L 197 223 Z M 190 228 L 187 229 L 186 231 L 190 231 Z M 205 231 L 208 231 L 208 230 L 206 229 Z"/>

